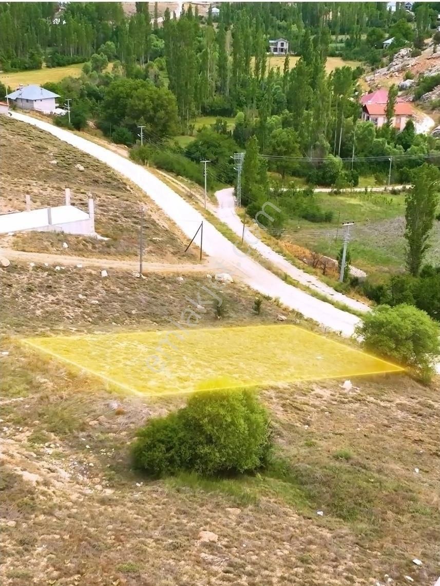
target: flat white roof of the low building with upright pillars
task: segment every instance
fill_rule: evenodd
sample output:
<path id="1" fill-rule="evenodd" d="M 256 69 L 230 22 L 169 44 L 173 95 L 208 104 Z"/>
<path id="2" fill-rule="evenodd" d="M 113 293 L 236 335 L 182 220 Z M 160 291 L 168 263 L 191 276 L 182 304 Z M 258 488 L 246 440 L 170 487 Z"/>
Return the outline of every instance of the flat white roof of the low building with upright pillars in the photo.
<path id="1" fill-rule="evenodd" d="M 88 214 L 74 206 L 57 206 L 51 208 L 52 224 L 66 224 L 87 220 Z M 15 212 L 0 216 L 0 234 L 18 232 L 20 230 L 35 230 L 47 224 L 47 207 L 30 212 Z"/>

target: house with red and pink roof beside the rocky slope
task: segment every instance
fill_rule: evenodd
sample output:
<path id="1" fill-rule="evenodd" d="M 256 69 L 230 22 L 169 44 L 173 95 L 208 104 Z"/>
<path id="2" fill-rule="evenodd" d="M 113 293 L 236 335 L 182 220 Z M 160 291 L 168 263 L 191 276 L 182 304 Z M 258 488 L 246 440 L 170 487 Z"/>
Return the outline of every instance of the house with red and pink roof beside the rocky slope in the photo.
<path id="1" fill-rule="evenodd" d="M 370 94 L 365 94 L 360 98 L 360 104 L 362 104 L 362 115 L 363 121 L 370 121 L 376 124 L 377 128 L 380 128 L 387 121 L 386 107 L 388 101 L 388 90 L 381 88 L 380 90 L 373 91 Z M 398 131 L 405 128 L 405 124 L 410 118 L 414 118 L 414 110 L 411 104 L 405 102 L 402 98 L 396 98 L 396 105 L 394 106 L 394 117 L 391 120 L 391 124 Z"/>

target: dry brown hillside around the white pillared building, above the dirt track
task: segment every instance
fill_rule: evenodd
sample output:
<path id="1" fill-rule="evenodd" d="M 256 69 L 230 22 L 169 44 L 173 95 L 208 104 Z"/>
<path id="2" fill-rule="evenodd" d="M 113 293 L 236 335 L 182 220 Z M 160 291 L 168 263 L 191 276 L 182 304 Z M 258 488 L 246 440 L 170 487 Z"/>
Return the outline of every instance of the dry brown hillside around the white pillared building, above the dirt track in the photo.
<path id="1" fill-rule="evenodd" d="M 87 210 L 87 194 L 92 194 L 96 230 L 109 239 L 26 232 L 13 237 L 13 248 L 77 256 L 135 258 L 139 250 L 139 206 L 143 202 L 147 205 L 145 261 L 173 263 L 197 257 L 193 251 L 184 254 L 187 239 L 175 224 L 163 217 L 145 193 L 129 185 L 103 163 L 47 132 L 2 117 L 0 151 L 0 213 L 25 209 L 26 193 L 31 196 L 34 208 L 63 205 L 64 188 L 70 187 L 72 204 L 84 210 Z M 63 249 L 64 241 L 68 243 L 67 249 Z M 11 242 L 8 240 L 7 244 Z"/>

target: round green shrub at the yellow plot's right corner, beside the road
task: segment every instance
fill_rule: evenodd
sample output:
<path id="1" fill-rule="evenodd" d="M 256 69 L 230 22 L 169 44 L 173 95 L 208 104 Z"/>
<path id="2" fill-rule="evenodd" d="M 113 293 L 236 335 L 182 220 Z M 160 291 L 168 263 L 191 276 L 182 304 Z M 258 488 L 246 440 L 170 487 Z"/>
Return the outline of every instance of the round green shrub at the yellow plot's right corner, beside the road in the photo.
<path id="1" fill-rule="evenodd" d="M 365 314 L 356 334 L 362 336 L 367 350 L 410 367 L 422 380 L 431 380 L 440 354 L 439 329 L 421 309 L 379 305 Z"/>

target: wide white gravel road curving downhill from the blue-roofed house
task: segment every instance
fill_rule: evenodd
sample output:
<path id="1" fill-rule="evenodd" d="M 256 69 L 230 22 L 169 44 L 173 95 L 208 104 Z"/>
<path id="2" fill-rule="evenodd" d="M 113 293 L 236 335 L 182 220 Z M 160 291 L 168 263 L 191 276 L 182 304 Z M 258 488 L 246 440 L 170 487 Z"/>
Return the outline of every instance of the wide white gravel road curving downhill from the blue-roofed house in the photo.
<path id="1" fill-rule="evenodd" d="M 173 189 L 140 165 L 129 161 L 105 147 L 83 137 L 25 114 L 12 113 L 15 120 L 26 122 L 49 132 L 61 141 L 87 153 L 121 173 L 142 189 L 173 220 L 188 238 L 192 238 L 203 222 L 203 250 L 212 257 L 219 271 L 229 272 L 260 294 L 279 298 L 281 304 L 301 312 L 306 318 L 314 319 L 326 328 L 342 335 L 351 336 L 360 319 L 321 301 L 312 295 L 288 285 L 257 261 L 239 250 L 223 236 L 200 212 L 187 203 Z M 195 239 L 200 246 L 200 232 Z M 346 298 L 348 299 L 348 298 Z"/>

